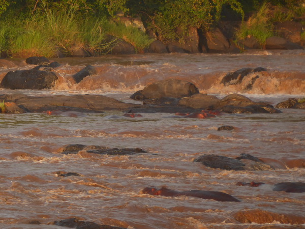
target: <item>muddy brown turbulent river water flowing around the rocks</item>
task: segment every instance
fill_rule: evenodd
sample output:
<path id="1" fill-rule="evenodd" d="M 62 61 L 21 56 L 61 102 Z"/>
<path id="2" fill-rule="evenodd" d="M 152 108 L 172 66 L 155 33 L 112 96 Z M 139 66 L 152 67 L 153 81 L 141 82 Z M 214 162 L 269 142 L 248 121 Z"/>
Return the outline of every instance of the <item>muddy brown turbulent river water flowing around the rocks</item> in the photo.
<path id="1" fill-rule="evenodd" d="M 52 59 L 62 66 L 53 90 L 5 90 L 1 94 L 32 96 L 98 94 L 130 103 L 130 95 L 166 78 L 193 82 L 201 93 L 220 98 L 241 93 L 273 105 L 305 97 L 305 51 L 254 51 L 246 54 L 106 55 L 96 58 Z M 9 60 L 9 71 L 30 69 L 24 60 Z M 80 83 L 72 75 L 86 65 L 98 69 Z M 222 77 L 245 67 L 264 67 L 251 90 L 247 78 L 224 86 Z M 250 80 L 250 78 L 249 78 Z M 248 81 L 249 82 L 249 81 Z M 305 194 L 272 191 L 280 182 L 305 182 L 305 110 L 281 109 L 275 114 L 225 114 L 216 118 L 173 118 L 169 113 L 87 113 L 79 117 L 44 113 L 0 114 L 0 228 L 63 228 L 54 221 L 82 221 L 129 228 L 288 228 L 280 221 L 240 222 L 236 213 L 305 216 Z M 116 115 L 116 119 L 111 119 Z M 233 131 L 218 131 L 231 125 Z M 63 155 L 67 144 L 141 148 L 137 155 Z M 193 160 L 204 154 L 235 158 L 251 154 L 275 169 L 233 171 L 205 167 Z M 62 177 L 58 174 L 78 173 Z M 259 187 L 237 186 L 263 182 Z M 144 187 L 167 186 L 222 191 L 241 202 L 217 202 L 190 196 L 142 194 Z M 269 213 L 268 213 L 269 212 Z M 271 212 L 271 213 L 270 213 Z M 29 224 L 29 222 L 40 224 Z M 303 228 L 298 224 L 294 228 Z"/>

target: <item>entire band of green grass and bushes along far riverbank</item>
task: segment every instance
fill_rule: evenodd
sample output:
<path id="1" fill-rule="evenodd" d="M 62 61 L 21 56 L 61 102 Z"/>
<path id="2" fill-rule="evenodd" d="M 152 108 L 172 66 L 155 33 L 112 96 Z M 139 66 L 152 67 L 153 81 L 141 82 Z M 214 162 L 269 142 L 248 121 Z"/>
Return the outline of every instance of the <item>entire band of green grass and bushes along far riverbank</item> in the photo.
<path id="1" fill-rule="evenodd" d="M 99 55 L 124 41 L 141 53 L 154 40 L 184 43 L 191 27 L 206 33 L 221 20 L 240 22 L 236 42 L 253 36 L 263 47 L 275 35 L 274 22 L 304 25 L 304 14 L 299 0 L 0 0 L 0 52 L 20 58 L 58 51 L 73 56 L 82 48 Z M 123 16 L 141 18 L 145 28 L 126 26 L 119 20 Z"/>

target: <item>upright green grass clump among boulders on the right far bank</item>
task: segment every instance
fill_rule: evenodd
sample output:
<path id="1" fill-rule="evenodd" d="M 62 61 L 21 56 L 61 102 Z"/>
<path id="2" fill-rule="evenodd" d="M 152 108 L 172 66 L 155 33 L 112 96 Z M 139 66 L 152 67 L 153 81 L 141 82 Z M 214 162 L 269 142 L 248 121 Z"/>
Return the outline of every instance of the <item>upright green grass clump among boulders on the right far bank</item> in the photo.
<path id="1" fill-rule="evenodd" d="M 269 4 L 263 3 L 256 14 L 247 21 L 243 21 L 236 32 L 236 38 L 242 40 L 253 36 L 263 46 L 266 39 L 273 36 L 272 24 L 269 22 L 269 7 Z"/>

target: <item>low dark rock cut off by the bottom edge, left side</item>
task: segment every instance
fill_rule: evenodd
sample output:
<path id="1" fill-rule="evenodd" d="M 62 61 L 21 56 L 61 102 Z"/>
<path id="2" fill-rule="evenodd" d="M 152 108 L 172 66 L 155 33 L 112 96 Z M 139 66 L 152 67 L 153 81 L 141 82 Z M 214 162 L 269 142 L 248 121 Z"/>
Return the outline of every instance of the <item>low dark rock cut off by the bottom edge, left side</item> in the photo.
<path id="1" fill-rule="evenodd" d="M 123 227 L 118 226 L 100 225 L 95 222 L 80 221 L 77 218 L 54 221 L 54 225 L 73 227 L 76 229 L 123 229 Z"/>

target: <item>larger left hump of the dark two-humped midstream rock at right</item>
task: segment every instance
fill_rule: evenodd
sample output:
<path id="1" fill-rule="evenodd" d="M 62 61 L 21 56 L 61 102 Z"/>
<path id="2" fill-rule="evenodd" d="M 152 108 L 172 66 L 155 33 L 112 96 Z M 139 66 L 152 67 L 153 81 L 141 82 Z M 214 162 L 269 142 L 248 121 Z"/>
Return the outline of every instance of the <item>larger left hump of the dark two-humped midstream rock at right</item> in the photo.
<path id="1" fill-rule="evenodd" d="M 195 159 L 194 162 L 201 162 L 205 166 L 211 168 L 220 168 L 225 170 L 245 170 L 245 164 L 240 160 L 218 156 L 214 154 L 202 155 L 199 158 Z"/>

